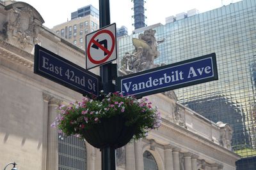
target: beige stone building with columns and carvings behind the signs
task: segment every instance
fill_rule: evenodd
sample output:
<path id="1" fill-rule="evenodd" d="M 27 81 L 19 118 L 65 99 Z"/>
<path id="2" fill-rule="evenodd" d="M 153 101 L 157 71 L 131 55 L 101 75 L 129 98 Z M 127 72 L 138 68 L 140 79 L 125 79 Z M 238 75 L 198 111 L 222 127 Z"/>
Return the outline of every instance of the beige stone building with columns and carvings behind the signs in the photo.
<path id="1" fill-rule="evenodd" d="M 58 138 L 50 127 L 60 103 L 81 94 L 33 73 L 38 44 L 78 66 L 84 51 L 44 27 L 43 18 L 22 2 L 0 4 L 0 168 L 100 169 L 100 151 L 77 138 Z M 92 71 L 99 74 L 99 69 Z M 230 150 L 232 129 L 215 124 L 177 103 L 175 94 L 148 96 L 163 122 L 148 137 L 116 150 L 117 169 L 236 169 L 240 157 Z M 85 147 L 84 147 L 85 146 Z"/>

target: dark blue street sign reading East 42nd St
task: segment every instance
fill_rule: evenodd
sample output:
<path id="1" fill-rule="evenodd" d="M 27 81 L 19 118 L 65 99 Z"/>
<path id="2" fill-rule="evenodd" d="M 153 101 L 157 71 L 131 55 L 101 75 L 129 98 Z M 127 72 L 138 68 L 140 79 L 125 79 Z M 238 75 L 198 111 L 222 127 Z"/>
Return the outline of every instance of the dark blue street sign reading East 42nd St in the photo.
<path id="1" fill-rule="evenodd" d="M 35 45 L 34 73 L 81 94 L 99 96 L 100 76 Z"/>

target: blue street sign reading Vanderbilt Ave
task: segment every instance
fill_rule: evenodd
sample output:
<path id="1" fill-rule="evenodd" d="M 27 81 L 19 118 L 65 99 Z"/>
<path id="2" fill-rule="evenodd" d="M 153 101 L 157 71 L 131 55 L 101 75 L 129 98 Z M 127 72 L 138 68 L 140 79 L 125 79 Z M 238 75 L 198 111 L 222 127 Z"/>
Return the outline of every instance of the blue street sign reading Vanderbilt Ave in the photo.
<path id="1" fill-rule="evenodd" d="M 218 80 L 215 53 L 121 76 L 117 83 L 124 96 L 143 97 L 212 80 Z"/>

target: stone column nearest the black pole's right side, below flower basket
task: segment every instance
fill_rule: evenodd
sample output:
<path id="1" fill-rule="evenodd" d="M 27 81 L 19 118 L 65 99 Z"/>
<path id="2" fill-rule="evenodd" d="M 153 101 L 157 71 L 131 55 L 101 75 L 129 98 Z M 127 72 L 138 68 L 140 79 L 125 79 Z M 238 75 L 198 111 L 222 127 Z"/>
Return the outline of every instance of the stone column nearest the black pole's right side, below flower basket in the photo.
<path id="1" fill-rule="evenodd" d="M 125 170 L 135 169 L 134 142 L 125 145 Z"/>

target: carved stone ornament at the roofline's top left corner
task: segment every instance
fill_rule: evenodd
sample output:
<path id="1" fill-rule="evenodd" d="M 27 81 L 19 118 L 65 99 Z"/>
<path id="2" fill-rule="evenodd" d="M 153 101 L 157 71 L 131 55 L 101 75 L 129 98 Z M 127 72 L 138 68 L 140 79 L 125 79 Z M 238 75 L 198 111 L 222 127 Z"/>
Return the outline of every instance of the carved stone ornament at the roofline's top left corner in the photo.
<path id="1" fill-rule="evenodd" d="M 26 3 L 13 3 L 8 9 L 6 22 L 3 27 L 4 40 L 30 52 L 38 43 L 38 32 L 44 22 L 36 19 L 37 11 Z M 35 12 L 36 11 L 36 12 Z"/>

